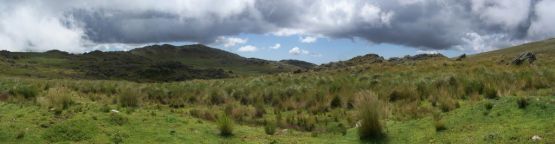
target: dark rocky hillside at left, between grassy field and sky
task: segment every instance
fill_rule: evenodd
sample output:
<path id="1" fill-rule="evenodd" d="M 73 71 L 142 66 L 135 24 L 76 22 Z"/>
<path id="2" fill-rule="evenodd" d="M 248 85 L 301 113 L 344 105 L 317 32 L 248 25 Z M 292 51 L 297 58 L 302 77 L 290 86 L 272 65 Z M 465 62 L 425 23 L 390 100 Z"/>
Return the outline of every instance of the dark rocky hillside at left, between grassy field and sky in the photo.
<path id="1" fill-rule="evenodd" d="M 292 72 L 304 67 L 244 58 L 204 45 L 153 45 L 129 52 L 0 52 L 4 75 L 167 82 Z"/>

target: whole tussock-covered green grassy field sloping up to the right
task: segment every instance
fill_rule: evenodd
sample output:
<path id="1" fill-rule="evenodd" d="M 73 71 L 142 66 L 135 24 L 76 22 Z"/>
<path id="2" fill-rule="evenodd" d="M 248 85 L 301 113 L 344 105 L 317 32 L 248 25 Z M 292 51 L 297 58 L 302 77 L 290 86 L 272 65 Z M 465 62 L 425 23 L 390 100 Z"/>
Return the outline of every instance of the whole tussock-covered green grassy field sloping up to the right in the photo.
<path id="1" fill-rule="evenodd" d="M 3 69 L 0 142 L 555 143 L 554 46 L 165 83 Z"/>

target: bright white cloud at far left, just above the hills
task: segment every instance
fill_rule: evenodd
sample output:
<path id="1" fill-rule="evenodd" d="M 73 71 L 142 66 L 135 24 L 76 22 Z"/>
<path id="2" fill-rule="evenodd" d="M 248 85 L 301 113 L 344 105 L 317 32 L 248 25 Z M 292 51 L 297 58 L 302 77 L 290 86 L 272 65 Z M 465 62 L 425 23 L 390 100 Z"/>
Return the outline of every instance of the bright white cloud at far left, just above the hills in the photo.
<path id="1" fill-rule="evenodd" d="M 9 10 L 8 10 L 9 9 Z M 0 7 L 0 48 L 9 51 L 84 51 L 84 32 L 72 19 L 61 20 L 32 6 Z"/>

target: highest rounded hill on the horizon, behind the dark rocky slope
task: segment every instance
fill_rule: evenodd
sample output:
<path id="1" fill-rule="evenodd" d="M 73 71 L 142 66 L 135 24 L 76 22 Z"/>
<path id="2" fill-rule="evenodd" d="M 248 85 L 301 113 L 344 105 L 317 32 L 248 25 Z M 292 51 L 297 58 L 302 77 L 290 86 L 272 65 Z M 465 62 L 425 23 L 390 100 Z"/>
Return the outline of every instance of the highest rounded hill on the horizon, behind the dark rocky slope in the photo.
<path id="1" fill-rule="evenodd" d="M 273 74 L 303 69 L 289 63 L 244 58 L 205 45 L 153 45 L 131 50 L 130 53 L 153 60 L 174 60 L 198 68 L 219 68 L 239 75 Z"/>

